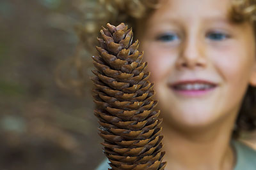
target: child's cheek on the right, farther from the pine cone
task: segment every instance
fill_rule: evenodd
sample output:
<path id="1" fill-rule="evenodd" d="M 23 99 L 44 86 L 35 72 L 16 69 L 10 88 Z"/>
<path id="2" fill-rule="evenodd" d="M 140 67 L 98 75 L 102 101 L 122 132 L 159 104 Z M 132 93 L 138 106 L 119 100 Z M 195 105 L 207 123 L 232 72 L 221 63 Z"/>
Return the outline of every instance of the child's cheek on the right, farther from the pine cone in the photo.
<path id="1" fill-rule="evenodd" d="M 221 113 L 225 108 L 225 112 L 228 113 L 239 106 L 248 87 L 252 55 L 250 49 L 244 46 L 232 46 L 225 50 L 211 52 L 211 60 L 221 78 L 222 90 L 218 97 L 219 112 Z"/>

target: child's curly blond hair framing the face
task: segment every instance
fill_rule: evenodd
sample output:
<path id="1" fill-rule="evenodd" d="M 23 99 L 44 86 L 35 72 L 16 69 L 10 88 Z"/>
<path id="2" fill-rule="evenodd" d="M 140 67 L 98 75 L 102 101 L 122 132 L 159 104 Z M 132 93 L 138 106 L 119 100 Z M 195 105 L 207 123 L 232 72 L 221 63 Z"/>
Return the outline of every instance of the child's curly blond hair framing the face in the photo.
<path id="1" fill-rule="evenodd" d="M 88 3 L 92 1 L 87 0 Z M 230 20 L 236 23 L 252 22 L 256 32 L 256 0 L 230 0 L 232 8 L 230 8 Z M 125 22 L 129 27 L 136 29 L 136 20 L 147 17 L 151 11 L 159 8 L 161 3 L 159 0 L 97 0 L 91 5 L 92 8 L 86 11 L 88 20 L 83 25 L 76 26 L 76 32 L 79 36 L 79 45 L 77 53 L 72 60 L 73 66 L 77 70 L 76 80 L 70 78 L 69 81 L 63 82 L 58 76 L 58 84 L 65 86 L 76 86 L 78 89 L 84 89 L 83 64 L 79 59 L 79 50 L 85 48 L 92 55 L 95 52 L 94 46 L 97 45 L 96 37 L 99 35 L 101 25 L 110 22 L 118 25 Z M 134 30 L 136 35 L 136 30 Z M 61 67 L 59 67 L 59 70 Z M 58 73 L 58 72 L 57 72 Z M 58 74 L 60 75 L 60 74 Z M 65 76 L 65 75 L 64 75 Z M 243 99 L 243 104 L 236 120 L 233 137 L 238 138 L 241 131 L 252 131 L 256 129 L 256 88 L 249 85 Z"/>

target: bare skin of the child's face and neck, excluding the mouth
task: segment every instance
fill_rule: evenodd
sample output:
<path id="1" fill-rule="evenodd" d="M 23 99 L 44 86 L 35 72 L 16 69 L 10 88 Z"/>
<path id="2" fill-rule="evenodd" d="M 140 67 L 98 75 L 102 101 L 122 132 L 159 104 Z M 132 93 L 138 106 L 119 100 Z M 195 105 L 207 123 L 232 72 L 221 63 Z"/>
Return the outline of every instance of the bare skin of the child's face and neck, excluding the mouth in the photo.
<path id="1" fill-rule="evenodd" d="M 138 38 L 164 117 L 166 169 L 232 169 L 230 136 L 248 85 L 256 85 L 252 24 L 230 22 L 230 0 L 162 3 L 140 21 Z M 182 96 L 170 84 L 184 79 L 217 87 L 203 96 Z"/>

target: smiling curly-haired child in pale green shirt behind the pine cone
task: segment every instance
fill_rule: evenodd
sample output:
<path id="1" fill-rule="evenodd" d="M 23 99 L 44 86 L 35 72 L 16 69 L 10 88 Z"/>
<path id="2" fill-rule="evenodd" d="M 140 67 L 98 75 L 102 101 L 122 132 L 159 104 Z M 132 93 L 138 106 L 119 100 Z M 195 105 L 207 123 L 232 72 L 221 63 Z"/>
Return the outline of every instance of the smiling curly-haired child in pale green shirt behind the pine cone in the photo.
<path id="1" fill-rule="evenodd" d="M 256 152 L 235 140 L 256 124 L 256 1 L 105 3 L 145 52 L 164 118 L 165 169 L 256 169 Z"/>

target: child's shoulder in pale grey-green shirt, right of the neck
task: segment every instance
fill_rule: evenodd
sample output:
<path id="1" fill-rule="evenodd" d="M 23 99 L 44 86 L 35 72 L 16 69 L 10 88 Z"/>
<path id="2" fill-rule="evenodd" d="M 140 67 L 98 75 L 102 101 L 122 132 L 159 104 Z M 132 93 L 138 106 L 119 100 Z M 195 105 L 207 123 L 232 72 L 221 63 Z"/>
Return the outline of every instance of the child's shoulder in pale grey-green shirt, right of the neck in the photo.
<path id="1" fill-rule="evenodd" d="M 256 150 L 250 148 L 240 141 L 232 141 L 236 150 L 236 167 L 234 170 L 246 169 L 255 170 L 256 167 Z"/>

